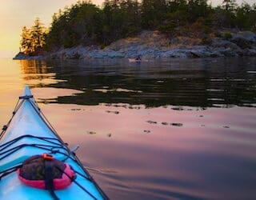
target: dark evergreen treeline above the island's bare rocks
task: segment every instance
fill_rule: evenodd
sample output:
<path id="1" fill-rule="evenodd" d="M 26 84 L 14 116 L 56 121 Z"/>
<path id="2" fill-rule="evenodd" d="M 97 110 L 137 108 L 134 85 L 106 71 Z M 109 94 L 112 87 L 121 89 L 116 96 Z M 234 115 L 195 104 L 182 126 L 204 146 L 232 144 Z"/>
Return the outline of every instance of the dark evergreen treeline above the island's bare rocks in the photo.
<path id="1" fill-rule="evenodd" d="M 38 33 L 43 35 L 44 50 L 56 50 L 62 46 L 107 46 L 142 30 L 207 37 L 223 28 L 255 32 L 256 4 L 238 6 L 235 0 L 224 0 L 222 5 L 213 7 L 207 0 L 106 0 L 98 7 L 79 1 L 54 14 L 47 34 Z M 22 50 L 41 50 L 42 46 L 29 50 L 30 46 L 23 42 L 23 32 L 26 30 L 22 31 Z"/>

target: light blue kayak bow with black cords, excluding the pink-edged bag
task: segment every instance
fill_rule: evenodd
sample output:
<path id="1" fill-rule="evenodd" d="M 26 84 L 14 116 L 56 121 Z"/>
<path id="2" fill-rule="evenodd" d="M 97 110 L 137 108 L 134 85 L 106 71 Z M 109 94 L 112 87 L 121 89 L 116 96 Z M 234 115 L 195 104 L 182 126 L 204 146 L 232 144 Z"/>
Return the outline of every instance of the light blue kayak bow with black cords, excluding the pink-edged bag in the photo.
<path id="1" fill-rule="evenodd" d="M 70 186 L 48 190 L 26 186 L 16 171 L 31 156 L 50 154 L 72 167 L 76 178 Z M 1 199 L 108 199 L 77 156 L 62 141 L 46 120 L 28 86 L 19 97 L 13 116 L 0 134 L 0 197 Z"/>

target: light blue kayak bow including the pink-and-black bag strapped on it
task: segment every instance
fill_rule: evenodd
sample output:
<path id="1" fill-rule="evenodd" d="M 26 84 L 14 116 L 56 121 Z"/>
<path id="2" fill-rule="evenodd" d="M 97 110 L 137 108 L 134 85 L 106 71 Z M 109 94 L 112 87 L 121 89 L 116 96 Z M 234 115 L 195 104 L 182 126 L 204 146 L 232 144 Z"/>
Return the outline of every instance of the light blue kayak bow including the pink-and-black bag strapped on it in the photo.
<path id="1" fill-rule="evenodd" d="M 28 86 L 0 134 L 1 199 L 108 199 L 62 141 Z"/>

